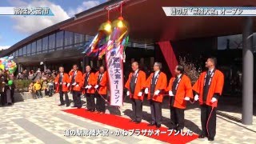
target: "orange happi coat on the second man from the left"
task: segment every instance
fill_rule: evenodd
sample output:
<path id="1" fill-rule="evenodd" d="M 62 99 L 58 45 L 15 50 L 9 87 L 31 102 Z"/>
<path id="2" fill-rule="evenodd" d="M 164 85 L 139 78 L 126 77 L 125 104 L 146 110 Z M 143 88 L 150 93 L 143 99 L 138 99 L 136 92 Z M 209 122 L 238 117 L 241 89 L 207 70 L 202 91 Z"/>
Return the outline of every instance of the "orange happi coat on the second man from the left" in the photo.
<path id="1" fill-rule="evenodd" d="M 74 71 L 71 70 L 69 75 L 70 75 L 70 82 L 72 82 Z M 81 91 L 83 83 L 82 83 L 82 72 L 80 70 L 77 70 L 77 75 L 75 76 L 74 81 L 77 83 L 76 85 L 78 86 L 72 86 L 73 83 L 70 83 L 71 90 Z"/>

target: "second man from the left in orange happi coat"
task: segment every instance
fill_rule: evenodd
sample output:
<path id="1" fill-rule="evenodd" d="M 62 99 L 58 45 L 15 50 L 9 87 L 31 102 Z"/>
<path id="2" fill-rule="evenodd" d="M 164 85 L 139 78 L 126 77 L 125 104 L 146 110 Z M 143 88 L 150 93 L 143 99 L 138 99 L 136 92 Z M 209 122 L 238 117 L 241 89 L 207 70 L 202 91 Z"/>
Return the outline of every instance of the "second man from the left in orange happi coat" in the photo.
<path id="1" fill-rule="evenodd" d="M 74 106 L 80 109 L 82 107 L 81 102 L 81 88 L 82 88 L 82 72 L 78 70 L 78 66 L 74 65 L 73 69 L 70 70 L 70 85 L 73 95 Z"/>

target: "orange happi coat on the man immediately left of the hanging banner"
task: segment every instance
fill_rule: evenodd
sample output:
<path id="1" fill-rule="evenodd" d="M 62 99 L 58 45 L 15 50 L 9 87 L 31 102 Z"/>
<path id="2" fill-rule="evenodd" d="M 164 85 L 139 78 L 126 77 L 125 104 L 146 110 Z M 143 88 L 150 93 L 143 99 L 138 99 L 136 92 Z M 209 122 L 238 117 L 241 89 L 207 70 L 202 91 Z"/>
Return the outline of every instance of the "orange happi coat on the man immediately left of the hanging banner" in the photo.
<path id="1" fill-rule="evenodd" d="M 100 74 L 99 72 L 97 72 L 95 74 L 95 80 L 96 80 L 95 85 L 98 84 L 97 82 L 98 82 L 98 75 L 99 74 Z M 107 92 L 107 84 L 108 84 L 108 78 L 107 77 L 108 76 L 107 76 L 107 73 L 105 71 L 103 76 L 102 76 L 102 81 L 99 82 L 98 94 L 106 94 L 106 92 Z"/>

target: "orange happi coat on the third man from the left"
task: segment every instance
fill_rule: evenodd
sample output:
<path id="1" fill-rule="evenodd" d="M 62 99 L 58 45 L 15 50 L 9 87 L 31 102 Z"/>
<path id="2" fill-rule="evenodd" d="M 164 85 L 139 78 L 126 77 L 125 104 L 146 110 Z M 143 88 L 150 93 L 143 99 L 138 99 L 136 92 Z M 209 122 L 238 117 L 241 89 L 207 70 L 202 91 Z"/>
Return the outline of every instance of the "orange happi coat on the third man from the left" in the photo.
<path id="1" fill-rule="evenodd" d="M 82 86 L 85 86 L 85 83 L 86 83 L 86 73 L 85 74 L 83 74 L 83 76 L 82 76 Z M 88 79 L 88 85 L 87 86 L 91 86 L 91 88 L 90 89 L 85 89 L 85 90 L 83 90 L 82 92 L 83 92 L 83 94 L 85 94 L 85 93 L 88 93 L 88 94 L 95 94 L 95 89 L 94 89 L 94 86 L 95 86 L 95 84 L 96 84 L 96 82 L 97 82 L 97 80 L 96 80 L 97 78 L 95 78 L 95 74 L 94 73 L 90 73 L 90 75 L 89 75 L 89 79 Z"/>

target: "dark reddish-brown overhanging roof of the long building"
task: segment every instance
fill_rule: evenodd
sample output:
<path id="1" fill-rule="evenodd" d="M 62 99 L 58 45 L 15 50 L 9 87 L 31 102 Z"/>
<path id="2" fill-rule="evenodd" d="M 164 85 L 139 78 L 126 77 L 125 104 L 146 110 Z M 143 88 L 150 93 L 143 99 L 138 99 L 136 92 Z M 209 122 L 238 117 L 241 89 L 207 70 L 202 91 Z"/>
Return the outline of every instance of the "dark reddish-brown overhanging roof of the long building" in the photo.
<path id="1" fill-rule="evenodd" d="M 8 50 L 1 52 L 0 57 L 11 54 L 28 42 L 32 42 L 43 35 L 55 30 L 67 30 L 82 34 L 94 35 L 98 26 L 106 22 L 106 6 L 121 2 L 111 0 L 95 6 L 82 13 L 75 14 L 47 27 L 22 41 L 17 42 Z M 221 35 L 242 34 L 243 17 L 166 17 L 162 6 L 255 6 L 255 0 L 181 0 L 181 1 L 156 1 L 156 0 L 128 0 L 123 6 L 122 15 L 130 23 L 130 40 L 133 42 L 154 43 L 159 41 L 177 41 L 186 38 L 216 37 Z M 119 12 L 110 12 L 110 20 L 118 18 Z M 256 18 L 254 18 L 254 31 L 256 31 Z"/>

